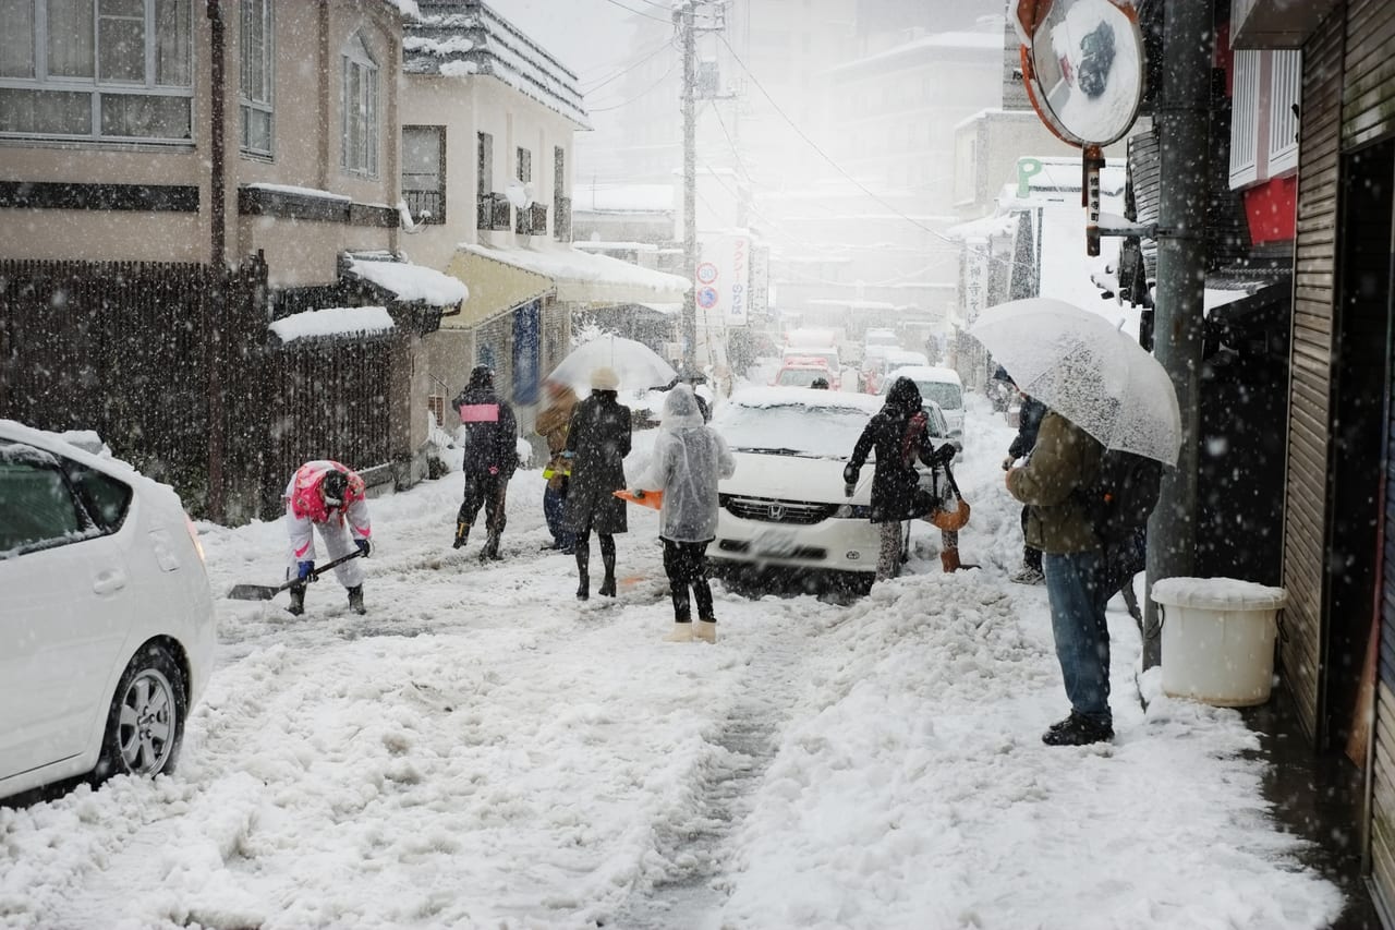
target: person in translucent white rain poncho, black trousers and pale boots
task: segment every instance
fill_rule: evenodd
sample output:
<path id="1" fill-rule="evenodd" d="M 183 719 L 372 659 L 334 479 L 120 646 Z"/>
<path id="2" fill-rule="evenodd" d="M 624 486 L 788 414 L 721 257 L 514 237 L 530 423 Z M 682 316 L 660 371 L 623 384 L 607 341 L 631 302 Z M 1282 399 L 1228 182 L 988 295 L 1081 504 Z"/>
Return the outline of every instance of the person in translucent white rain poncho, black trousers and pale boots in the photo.
<path id="1" fill-rule="evenodd" d="M 674 599 L 674 630 L 664 637 L 668 642 L 695 638 L 689 588 L 698 602 L 696 638 L 717 641 L 717 617 L 707 585 L 707 543 L 717 535 L 717 482 L 735 471 L 725 440 L 703 423 L 693 390 L 686 384 L 674 387 L 664 399 L 654 458 L 631 489 L 636 497 L 644 492 L 664 493 L 658 536 L 664 540 L 664 571 Z"/>

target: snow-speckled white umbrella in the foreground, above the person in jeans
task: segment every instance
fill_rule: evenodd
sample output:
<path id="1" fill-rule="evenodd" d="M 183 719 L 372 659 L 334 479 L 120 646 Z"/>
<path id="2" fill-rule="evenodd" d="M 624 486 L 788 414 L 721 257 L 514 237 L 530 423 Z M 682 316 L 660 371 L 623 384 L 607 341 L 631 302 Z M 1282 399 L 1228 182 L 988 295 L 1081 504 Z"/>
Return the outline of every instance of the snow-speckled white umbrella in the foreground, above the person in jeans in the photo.
<path id="1" fill-rule="evenodd" d="M 1117 448 L 1177 464 L 1182 413 L 1155 357 L 1098 313 L 1032 297 L 989 307 L 970 327 L 1025 394 Z"/>

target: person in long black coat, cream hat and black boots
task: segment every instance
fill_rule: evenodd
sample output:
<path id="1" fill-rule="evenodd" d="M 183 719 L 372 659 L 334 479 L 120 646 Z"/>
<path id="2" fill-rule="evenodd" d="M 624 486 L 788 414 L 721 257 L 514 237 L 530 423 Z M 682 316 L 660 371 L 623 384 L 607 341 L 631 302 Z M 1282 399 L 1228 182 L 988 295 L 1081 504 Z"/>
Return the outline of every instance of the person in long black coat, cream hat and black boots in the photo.
<path id="1" fill-rule="evenodd" d="M 605 580 L 600 593 L 615 596 L 615 533 L 628 529 L 625 501 L 614 492 L 625 487 L 625 457 L 629 455 L 631 412 L 617 399 L 619 378 L 611 369 L 591 373 L 591 395 L 576 405 L 566 434 L 566 455 L 572 479 L 566 492 L 566 528 L 575 533 L 576 599 L 591 596 L 591 531 L 600 536 Z"/>

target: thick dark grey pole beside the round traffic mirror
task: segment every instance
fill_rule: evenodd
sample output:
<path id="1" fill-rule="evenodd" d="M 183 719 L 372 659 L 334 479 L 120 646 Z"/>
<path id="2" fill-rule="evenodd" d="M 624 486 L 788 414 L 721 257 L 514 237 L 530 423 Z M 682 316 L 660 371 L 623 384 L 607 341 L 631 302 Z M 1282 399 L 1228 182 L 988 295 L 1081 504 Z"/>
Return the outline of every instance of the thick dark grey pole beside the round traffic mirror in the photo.
<path id="1" fill-rule="evenodd" d="M 1209 172 L 1211 68 L 1215 24 L 1211 0 L 1169 0 L 1163 10 L 1166 66 L 1154 121 L 1161 142 L 1155 353 L 1182 408 L 1182 452 L 1165 471 L 1148 521 L 1148 582 L 1194 575 L 1205 216 Z M 1144 614 L 1144 667 L 1162 662 L 1158 607 Z"/>

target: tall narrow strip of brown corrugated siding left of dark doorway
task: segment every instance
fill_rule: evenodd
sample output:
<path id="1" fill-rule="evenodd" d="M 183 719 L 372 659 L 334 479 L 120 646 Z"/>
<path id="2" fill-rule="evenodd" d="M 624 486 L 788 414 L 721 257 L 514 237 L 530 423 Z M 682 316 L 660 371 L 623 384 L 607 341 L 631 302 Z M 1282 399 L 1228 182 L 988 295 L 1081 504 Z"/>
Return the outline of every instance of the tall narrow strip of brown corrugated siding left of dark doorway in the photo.
<path id="1" fill-rule="evenodd" d="M 1299 219 L 1293 270 L 1289 459 L 1285 489 L 1285 680 L 1309 736 L 1318 730 L 1328 408 L 1341 165 L 1342 22 L 1331 17 L 1304 47 Z"/>

